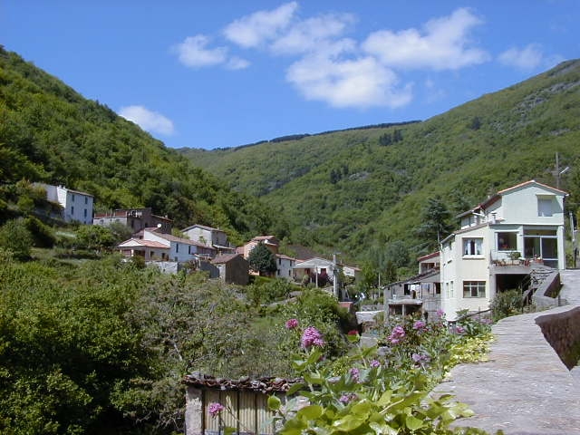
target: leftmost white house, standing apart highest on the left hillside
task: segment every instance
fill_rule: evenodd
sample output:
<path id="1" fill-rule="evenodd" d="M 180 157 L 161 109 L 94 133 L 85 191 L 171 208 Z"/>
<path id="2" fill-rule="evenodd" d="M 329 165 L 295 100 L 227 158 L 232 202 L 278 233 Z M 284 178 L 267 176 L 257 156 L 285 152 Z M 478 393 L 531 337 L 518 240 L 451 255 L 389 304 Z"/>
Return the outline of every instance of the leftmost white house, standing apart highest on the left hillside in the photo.
<path id="1" fill-rule="evenodd" d="M 90 193 L 43 183 L 38 183 L 38 186 L 46 190 L 47 200 L 58 203 L 63 208 L 60 218 L 64 222 L 81 222 L 85 225 L 92 223 L 94 198 Z"/>

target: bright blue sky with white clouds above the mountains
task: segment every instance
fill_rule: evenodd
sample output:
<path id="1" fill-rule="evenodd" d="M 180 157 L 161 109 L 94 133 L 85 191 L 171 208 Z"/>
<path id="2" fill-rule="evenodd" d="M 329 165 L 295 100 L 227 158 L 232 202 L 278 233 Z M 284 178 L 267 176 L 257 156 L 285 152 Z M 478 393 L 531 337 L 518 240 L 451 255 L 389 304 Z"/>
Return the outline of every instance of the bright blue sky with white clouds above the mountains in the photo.
<path id="1" fill-rule="evenodd" d="M 4 0 L 0 43 L 173 148 L 426 120 L 580 57 L 578 0 Z"/>

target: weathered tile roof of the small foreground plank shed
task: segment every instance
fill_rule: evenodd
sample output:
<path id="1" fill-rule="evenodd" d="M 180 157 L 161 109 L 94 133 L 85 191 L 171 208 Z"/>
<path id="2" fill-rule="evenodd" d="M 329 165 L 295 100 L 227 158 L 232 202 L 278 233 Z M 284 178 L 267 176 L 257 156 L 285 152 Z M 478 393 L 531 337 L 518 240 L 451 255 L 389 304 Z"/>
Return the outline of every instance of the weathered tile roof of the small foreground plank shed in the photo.
<path id="1" fill-rule="evenodd" d="M 243 377 L 237 381 L 231 379 L 216 378 L 200 373 L 188 374 L 183 380 L 184 383 L 193 387 L 205 387 L 214 390 L 249 390 L 263 393 L 288 391 L 295 383 L 304 382 L 302 379 L 283 378 L 259 378 L 250 379 Z"/>

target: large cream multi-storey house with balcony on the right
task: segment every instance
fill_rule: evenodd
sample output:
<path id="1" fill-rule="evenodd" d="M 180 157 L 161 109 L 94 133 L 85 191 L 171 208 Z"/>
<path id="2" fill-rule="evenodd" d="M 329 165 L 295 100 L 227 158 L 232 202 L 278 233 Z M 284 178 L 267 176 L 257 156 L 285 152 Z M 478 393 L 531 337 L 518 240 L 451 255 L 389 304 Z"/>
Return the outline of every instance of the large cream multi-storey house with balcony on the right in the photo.
<path id="1" fill-rule="evenodd" d="M 499 191 L 459 215 L 441 242 L 441 308 L 488 309 L 498 292 L 517 288 L 536 266 L 565 268 L 565 191 L 535 180 Z"/>

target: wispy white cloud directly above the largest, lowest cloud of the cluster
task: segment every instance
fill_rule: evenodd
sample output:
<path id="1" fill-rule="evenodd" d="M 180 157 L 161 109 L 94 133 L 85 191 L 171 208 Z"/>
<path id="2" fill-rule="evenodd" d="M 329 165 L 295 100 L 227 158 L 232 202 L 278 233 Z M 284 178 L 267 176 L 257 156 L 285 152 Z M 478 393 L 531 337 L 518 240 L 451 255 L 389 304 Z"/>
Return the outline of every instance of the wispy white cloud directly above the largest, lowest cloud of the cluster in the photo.
<path id="1" fill-rule="evenodd" d="M 308 18 L 292 26 L 271 45 L 277 54 L 301 54 L 319 51 L 353 24 L 352 14 L 326 14 Z"/>

